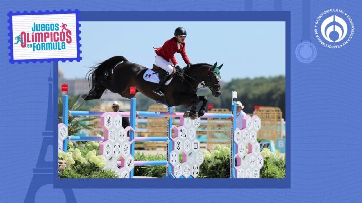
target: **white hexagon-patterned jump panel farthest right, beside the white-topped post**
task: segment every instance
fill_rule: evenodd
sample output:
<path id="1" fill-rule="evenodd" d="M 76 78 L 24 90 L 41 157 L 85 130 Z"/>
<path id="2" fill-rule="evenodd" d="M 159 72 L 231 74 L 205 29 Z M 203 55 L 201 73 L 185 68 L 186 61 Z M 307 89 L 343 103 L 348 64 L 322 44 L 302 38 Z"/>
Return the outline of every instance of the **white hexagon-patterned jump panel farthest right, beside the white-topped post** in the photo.
<path id="1" fill-rule="evenodd" d="M 243 129 L 234 132 L 237 165 L 234 166 L 237 178 L 260 178 L 260 169 L 264 165 L 264 158 L 260 153 L 260 144 L 257 142 L 257 132 L 261 129 L 261 120 L 258 116 L 246 116 L 243 119 Z"/>

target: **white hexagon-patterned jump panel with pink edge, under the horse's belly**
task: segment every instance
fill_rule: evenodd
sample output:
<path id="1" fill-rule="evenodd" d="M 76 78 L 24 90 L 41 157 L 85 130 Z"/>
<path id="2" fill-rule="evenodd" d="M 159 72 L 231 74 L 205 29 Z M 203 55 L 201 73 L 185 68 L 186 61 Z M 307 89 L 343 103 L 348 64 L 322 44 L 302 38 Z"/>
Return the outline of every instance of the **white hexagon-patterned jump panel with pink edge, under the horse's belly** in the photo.
<path id="1" fill-rule="evenodd" d="M 100 155 L 107 162 L 105 168 L 117 172 L 119 178 L 129 178 L 134 168 L 134 157 L 130 153 L 131 143 L 127 139 L 128 130 L 122 127 L 122 116 L 117 112 L 105 112 L 101 116 L 100 123 L 104 130 Z M 121 164 L 118 164 L 119 162 Z"/>

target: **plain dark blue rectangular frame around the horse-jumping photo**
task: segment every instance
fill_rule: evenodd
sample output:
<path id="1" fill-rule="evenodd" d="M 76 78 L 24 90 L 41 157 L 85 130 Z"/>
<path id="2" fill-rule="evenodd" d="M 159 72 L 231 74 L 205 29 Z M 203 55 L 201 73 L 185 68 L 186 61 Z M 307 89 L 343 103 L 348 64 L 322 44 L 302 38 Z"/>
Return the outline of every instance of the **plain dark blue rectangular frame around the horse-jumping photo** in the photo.
<path id="1" fill-rule="evenodd" d="M 62 179 L 54 161 L 54 188 L 290 188 L 290 12 L 80 12 L 81 21 L 284 21 L 286 62 L 286 178 L 284 179 Z M 54 113 L 58 112 L 58 62 L 54 62 Z M 53 117 L 53 145 L 58 146 L 58 118 Z M 54 147 L 54 160 L 58 160 Z"/>

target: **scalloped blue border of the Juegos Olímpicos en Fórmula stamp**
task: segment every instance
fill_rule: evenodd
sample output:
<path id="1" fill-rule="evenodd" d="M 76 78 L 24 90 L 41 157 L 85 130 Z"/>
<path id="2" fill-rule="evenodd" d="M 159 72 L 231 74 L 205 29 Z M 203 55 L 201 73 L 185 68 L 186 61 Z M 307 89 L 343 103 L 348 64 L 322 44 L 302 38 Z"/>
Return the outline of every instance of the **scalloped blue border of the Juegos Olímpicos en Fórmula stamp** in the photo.
<path id="1" fill-rule="evenodd" d="M 75 21 L 76 21 L 76 40 L 77 40 L 77 57 L 76 58 L 47 58 L 47 59 L 22 59 L 22 60 L 14 60 L 14 57 L 13 57 L 13 16 L 18 16 L 18 15 L 44 15 L 44 14 L 74 14 L 75 13 Z M 79 10 L 75 9 L 74 11 L 68 9 L 67 11 L 64 11 L 64 10 L 60 10 L 60 11 L 56 11 L 56 10 L 53 10 L 53 11 L 49 11 L 49 10 L 46 10 L 46 11 L 38 11 L 38 12 L 35 12 L 35 11 L 30 11 L 30 12 L 19 12 L 17 11 L 16 13 L 13 13 L 13 12 L 9 12 L 8 13 L 8 17 L 9 17 L 9 20 L 8 20 L 8 23 L 9 23 L 9 27 L 8 27 L 8 30 L 9 30 L 9 33 L 8 33 L 8 36 L 9 36 L 9 56 L 10 56 L 10 59 L 9 59 L 9 62 L 11 64 L 14 64 L 14 63 L 22 63 L 22 62 L 25 62 L 25 63 L 29 63 L 29 62 L 33 62 L 33 63 L 36 63 L 36 62 L 52 62 L 52 61 L 62 61 L 62 62 L 65 62 L 67 60 L 69 60 L 70 62 L 76 60 L 76 61 L 80 61 L 82 58 L 80 57 L 80 54 L 81 54 L 81 50 L 80 50 L 80 47 L 81 47 L 81 44 L 80 44 L 80 30 L 79 30 L 79 27 L 80 27 L 80 24 L 79 24 Z"/>

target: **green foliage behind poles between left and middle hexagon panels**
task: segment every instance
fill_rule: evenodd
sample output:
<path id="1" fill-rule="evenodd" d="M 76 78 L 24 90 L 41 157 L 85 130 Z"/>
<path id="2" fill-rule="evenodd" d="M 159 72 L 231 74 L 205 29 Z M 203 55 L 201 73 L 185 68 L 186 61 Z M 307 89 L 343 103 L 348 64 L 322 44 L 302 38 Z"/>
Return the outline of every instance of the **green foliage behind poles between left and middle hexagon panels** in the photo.
<path id="1" fill-rule="evenodd" d="M 157 155 L 144 155 L 137 152 L 135 154 L 135 161 L 162 161 L 167 160 L 167 157 L 162 154 Z M 135 166 L 134 176 L 148 176 L 162 178 L 166 174 L 166 166 L 155 165 L 155 166 Z"/>

